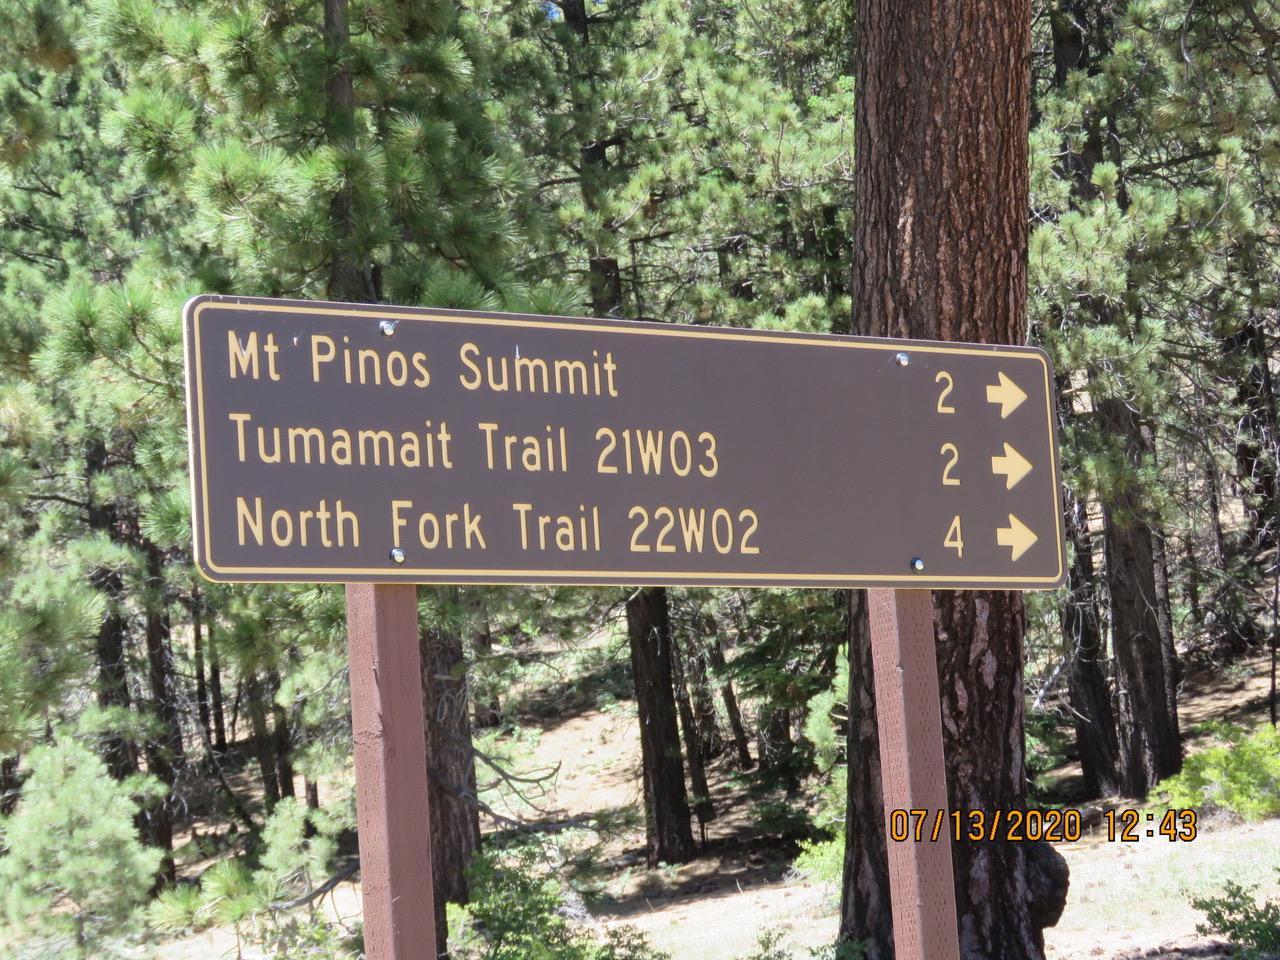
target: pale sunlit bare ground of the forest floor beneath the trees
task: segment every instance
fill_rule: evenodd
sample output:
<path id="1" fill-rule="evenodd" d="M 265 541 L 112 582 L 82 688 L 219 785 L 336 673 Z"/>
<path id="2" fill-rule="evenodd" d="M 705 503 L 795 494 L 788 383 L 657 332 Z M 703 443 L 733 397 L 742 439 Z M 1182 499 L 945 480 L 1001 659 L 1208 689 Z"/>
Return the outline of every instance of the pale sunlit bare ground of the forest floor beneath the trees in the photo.
<path id="1" fill-rule="evenodd" d="M 1183 726 L 1229 718 L 1247 724 L 1266 719 L 1267 658 L 1188 678 L 1180 705 Z M 559 774 L 538 801 L 536 817 L 581 818 L 639 808 L 639 736 L 634 704 L 584 704 L 571 717 L 534 723 L 531 758 L 559 764 Z M 1190 748 L 1194 749 L 1192 741 Z M 709 769 L 719 817 L 708 824 L 703 855 L 684 867 L 646 870 L 643 831 L 612 832 L 591 851 L 594 865 L 580 869 L 573 887 L 604 927 L 631 925 L 678 960 L 736 960 L 751 954 L 762 933 L 781 936 L 797 956 L 829 943 L 837 927 L 837 891 L 795 876 L 799 851 L 787 838 L 781 805 L 746 803 L 724 760 Z M 1076 792 L 1078 768 L 1051 774 L 1055 800 Z M 1112 805 L 1121 806 L 1123 801 Z M 1070 867 L 1071 887 L 1059 924 L 1046 932 L 1050 960 L 1213 960 L 1230 952 L 1201 937 L 1203 916 L 1190 906 L 1217 895 L 1228 881 L 1280 893 L 1280 819 L 1242 823 L 1230 817 L 1202 820 L 1192 842 L 1146 836 L 1137 844 L 1107 842 L 1098 824 L 1103 805 L 1091 805 L 1085 836 L 1059 850 Z M 754 814 L 750 814 L 754 812 Z M 632 823 L 634 823 L 632 817 Z M 325 910 L 352 922 L 360 914 L 358 886 L 343 883 Z M 163 960 L 236 956 L 230 931 L 207 931 L 161 947 Z M 256 956 L 250 950 L 246 959 Z"/>

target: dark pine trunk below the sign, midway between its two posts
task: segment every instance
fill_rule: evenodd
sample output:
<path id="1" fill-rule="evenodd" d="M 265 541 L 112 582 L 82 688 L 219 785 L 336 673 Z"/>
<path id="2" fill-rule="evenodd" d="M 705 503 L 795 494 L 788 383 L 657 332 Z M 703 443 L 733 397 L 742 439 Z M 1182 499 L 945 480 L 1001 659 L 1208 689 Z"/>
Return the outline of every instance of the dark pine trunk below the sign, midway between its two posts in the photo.
<path id="1" fill-rule="evenodd" d="M 627 636 L 640 719 L 649 865 L 687 863 L 695 854 L 694 835 L 680 759 L 671 676 L 671 620 L 663 588 L 644 588 L 627 599 Z"/>

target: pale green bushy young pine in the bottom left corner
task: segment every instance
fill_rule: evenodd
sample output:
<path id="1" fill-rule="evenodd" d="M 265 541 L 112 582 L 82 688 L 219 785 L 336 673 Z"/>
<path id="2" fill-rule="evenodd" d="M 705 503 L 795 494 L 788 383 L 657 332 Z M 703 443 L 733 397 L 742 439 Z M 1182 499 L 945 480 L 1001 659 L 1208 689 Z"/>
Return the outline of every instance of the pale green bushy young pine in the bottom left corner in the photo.
<path id="1" fill-rule="evenodd" d="M 154 781 L 120 783 L 74 740 L 32 750 L 13 817 L 0 822 L 0 896 L 9 920 L 65 937 L 68 956 L 99 955 L 147 900 L 160 851 L 138 841 L 138 797 Z"/>

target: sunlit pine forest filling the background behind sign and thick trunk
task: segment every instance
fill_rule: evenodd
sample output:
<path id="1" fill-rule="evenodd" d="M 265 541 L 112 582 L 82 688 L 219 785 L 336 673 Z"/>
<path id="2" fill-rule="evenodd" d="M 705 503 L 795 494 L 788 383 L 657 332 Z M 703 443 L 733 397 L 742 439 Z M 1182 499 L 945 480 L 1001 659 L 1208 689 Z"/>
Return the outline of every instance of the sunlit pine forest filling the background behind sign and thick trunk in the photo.
<path id="1" fill-rule="evenodd" d="M 855 33 L 852 0 L 0 0 L 0 954 L 358 951 L 325 906 L 355 874 L 342 591 L 195 572 L 183 302 L 863 333 Z M 1280 4 L 1037 0 L 1030 70 L 1071 568 L 998 664 L 1019 800 L 1275 818 Z M 748 911 L 758 960 L 884 956 L 846 844 L 878 782 L 861 594 L 420 603 L 449 956 L 728 956 L 599 919 L 699 896 L 699 861 L 828 890 L 817 940 Z M 571 803 L 585 717 L 613 788 Z M 1253 836 L 1176 893 L 1275 956 Z"/>

